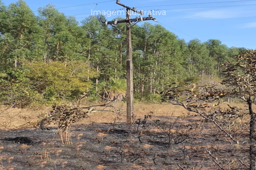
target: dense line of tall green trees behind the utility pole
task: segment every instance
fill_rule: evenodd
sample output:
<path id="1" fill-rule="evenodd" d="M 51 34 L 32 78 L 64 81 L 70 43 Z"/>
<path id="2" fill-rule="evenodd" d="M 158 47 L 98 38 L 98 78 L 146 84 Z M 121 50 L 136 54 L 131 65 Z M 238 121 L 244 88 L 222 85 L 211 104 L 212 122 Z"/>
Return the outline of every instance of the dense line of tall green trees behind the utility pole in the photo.
<path id="1" fill-rule="evenodd" d="M 106 26 L 105 20 L 89 16 L 79 23 L 50 4 L 35 15 L 23 0 L 9 6 L 0 0 L 0 100 L 17 105 L 31 96 L 51 101 L 124 93 L 125 23 Z M 150 23 L 132 27 L 132 48 L 136 99 L 154 97 L 164 83 L 219 77 L 221 64 L 245 50 L 213 39 L 185 42 Z"/>

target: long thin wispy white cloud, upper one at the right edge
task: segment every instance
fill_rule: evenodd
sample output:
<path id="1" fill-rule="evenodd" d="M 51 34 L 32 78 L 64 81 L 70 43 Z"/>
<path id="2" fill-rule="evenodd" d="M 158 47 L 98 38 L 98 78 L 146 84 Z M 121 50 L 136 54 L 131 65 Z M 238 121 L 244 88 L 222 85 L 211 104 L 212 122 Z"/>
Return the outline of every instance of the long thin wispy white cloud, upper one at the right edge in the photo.
<path id="1" fill-rule="evenodd" d="M 217 9 L 211 11 L 196 12 L 194 14 L 186 15 L 185 18 L 209 18 L 209 19 L 225 19 L 238 17 L 253 17 L 256 12 L 251 10 L 232 10 L 232 9 Z"/>

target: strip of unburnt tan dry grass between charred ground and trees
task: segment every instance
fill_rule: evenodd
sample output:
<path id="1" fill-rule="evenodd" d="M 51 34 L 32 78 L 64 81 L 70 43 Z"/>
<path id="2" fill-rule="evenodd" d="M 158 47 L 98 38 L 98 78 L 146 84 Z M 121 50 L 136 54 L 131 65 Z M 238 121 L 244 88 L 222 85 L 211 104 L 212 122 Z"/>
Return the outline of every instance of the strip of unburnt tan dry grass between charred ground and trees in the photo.
<path id="1" fill-rule="evenodd" d="M 242 103 L 231 103 L 231 106 L 236 106 L 244 108 Z M 120 108 L 123 112 L 116 114 L 110 111 L 111 108 L 95 108 L 98 111 L 91 113 L 88 119 L 81 120 L 79 123 L 113 123 L 113 122 L 125 122 L 126 121 L 126 103 L 120 102 L 115 105 Z M 221 107 L 228 107 L 227 103 L 221 103 Z M 188 111 L 186 111 L 181 106 L 176 105 L 160 105 L 160 104 L 150 104 L 150 103 L 136 103 L 134 105 L 135 118 L 143 117 L 144 115 L 153 112 L 154 119 L 159 119 L 160 116 L 186 116 Z M 0 129 L 20 129 L 28 127 L 36 127 L 38 122 L 42 119 L 44 114 L 51 110 L 50 107 L 41 106 L 28 109 L 18 109 L 18 108 L 6 108 L 0 106 Z M 108 111 L 109 110 L 109 111 Z M 193 113 L 192 113 L 193 114 Z"/>

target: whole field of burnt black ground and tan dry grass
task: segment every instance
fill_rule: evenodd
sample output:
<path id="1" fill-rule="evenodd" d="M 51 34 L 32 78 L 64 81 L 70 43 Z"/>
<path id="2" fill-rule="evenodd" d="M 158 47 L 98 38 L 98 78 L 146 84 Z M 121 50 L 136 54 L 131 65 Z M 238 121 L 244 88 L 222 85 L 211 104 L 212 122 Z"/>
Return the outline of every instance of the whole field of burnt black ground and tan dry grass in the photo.
<path id="1" fill-rule="evenodd" d="M 234 144 L 212 123 L 175 105 L 135 105 L 136 121 L 125 125 L 125 103 L 96 108 L 72 125 L 70 144 L 38 122 L 51 108 L 0 108 L 0 170 L 245 170 L 247 131 Z M 244 108 L 244 104 L 232 103 Z M 227 107 L 222 103 L 221 107 Z M 109 112 L 108 112 L 108 111 Z M 144 117 L 145 115 L 149 115 Z M 241 123 L 248 122 L 243 120 Z"/>

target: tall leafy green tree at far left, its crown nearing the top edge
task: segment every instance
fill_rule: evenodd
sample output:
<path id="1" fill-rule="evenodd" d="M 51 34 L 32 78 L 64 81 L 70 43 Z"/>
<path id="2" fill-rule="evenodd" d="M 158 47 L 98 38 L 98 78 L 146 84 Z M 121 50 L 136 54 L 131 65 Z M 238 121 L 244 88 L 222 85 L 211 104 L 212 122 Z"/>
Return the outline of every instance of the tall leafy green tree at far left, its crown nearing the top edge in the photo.
<path id="1" fill-rule="evenodd" d="M 35 47 L 35 32 L 37 28 L 37 20 L 35 14 L 29 6 L 19 0 L 17 3 L 11 3 L 6 10 L 1 7 L 5 18 L 5 24 L 0 27 L 2 43 L 5 48 L 6 61 L 14 63 L 17 68 L 20 59 L 26 59 L 30 55 L 30 50 Z M 8 16 L 8 17 L 6 17 Z"/>

